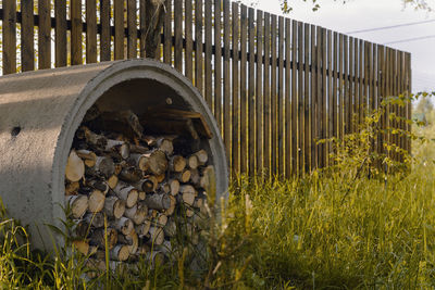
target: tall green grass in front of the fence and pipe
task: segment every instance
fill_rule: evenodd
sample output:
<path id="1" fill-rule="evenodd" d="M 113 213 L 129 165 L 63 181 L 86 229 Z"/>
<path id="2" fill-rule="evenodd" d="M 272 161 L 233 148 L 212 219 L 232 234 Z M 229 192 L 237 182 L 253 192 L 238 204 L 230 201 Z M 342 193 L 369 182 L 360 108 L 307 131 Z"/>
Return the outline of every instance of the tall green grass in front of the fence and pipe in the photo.
<path id="1" fill-rule="evenodd" d="M 387 178 L 340 171 L 285 181 L 240 177 L 227 204 L 216 201 L 220 223 L 203 235 L 207 260 L 196 270 L 183 241 L 169 266 L 142 262 L 83 279 L 85 257 L 69 249 L 51 257 L 29 251 L 24 229 L 3 213 L 0 287 L 433 289 L 434 148 L 415 143 L 412 171 Z"/>

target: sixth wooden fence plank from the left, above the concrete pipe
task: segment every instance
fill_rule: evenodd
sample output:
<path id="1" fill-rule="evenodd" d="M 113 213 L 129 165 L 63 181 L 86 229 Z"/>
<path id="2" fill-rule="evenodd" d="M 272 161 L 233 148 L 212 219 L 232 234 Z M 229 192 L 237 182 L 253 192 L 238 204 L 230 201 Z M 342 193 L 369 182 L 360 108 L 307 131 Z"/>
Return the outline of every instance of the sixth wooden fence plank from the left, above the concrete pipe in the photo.
<path id="1" fill-rule="evenodd" d="M 97 3 L 86 1 L 86 63 L 97 62 Z"/>

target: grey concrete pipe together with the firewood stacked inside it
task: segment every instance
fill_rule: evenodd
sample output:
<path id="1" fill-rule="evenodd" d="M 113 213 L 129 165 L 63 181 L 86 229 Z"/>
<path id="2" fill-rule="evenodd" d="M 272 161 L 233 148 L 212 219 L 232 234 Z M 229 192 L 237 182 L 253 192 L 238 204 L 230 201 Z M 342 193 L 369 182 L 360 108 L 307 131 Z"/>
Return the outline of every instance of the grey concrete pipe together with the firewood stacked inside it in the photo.
<path id="1" fill-rule="evenodd" d="M 208 166 L 213 182 L 201 180 Z M 174 201 L 195 212 L 207 187 L 226 198 L 224 146 L 199 91 L 170 66 L 128 60 L 0 77 L 0 196 L 35 248 L 52 247 L 45 225 L 62 227 L 67 204 L 77 231 L 92 227 L 83 252 L 101 245 L 104 213 L 113 260 L 149 254 L 138 238 L 171 248 Z"/>

